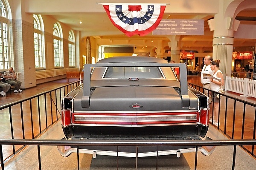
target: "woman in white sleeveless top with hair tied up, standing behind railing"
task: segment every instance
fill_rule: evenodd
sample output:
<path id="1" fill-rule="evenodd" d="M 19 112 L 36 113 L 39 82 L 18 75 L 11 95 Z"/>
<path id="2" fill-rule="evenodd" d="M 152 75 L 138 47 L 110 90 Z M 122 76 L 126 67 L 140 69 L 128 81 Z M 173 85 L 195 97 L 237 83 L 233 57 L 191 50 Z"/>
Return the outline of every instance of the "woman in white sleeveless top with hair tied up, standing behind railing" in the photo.
<path id="1" fill-rule="evenodd" d="M 211 90 L 212 91 L 217 91 L 217 92 L 221 92 L 222 86 L 224 85 L 223 74 L 219 70 L 219 66 L 220 66 L 220 60 L 219 59 L 212 61 L 211 70 L 214 71 L 214 73 L 212 75 L 212 77 L 214 77 L 214 78 L 209 79 L 210 82 L 211 82 Z M 212 94 L 214 94 L 214 95 L 212 95 L 212 99 L 214 101 L 212 121 L 213 121 L 214 125 L 219 126 L 220 123 L 218 123 L 218 110 L 219 110 L 219 100 L 221 99 L 221 95 L 219 95 L 217 93 L 213 93 L 213 92 L 212 92 Z"/>

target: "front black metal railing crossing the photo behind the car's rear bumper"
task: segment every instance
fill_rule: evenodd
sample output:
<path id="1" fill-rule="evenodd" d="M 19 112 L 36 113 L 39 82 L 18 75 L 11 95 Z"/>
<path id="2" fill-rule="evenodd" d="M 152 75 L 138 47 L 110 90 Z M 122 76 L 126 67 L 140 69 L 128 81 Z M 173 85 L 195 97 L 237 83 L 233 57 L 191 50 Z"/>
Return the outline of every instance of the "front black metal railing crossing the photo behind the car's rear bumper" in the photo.
<path id="1" fill-rule="evenodd" d="M 118 164 L 118 147 L 119 146 L 135 146 L 136 149 L 136 162 L 135 162 L 135 169 L 137 170 L 138 164 L 138 147 L 139 146 L 155 146 L 156 147 L 156 170 L 158 169 L 158 150 L 157 146 L 195 146 L 195 165 L 194 169 L 197 169 L 197 160 L 198 160 L 198 147 L 201 146 L 234 146 L 233 148 L 233 160 L 232 160 L 232 170 L 235 169 L 235 162 L 236 162 L 236 150 L 237 146 L 239 145 L 255 145 L 256 140 L 163 140 L 163 141 L 155 141 L 155 140 L 118 140 L 118 141 L 109 141 L 109 140 L 13 140 L 13 139 L 0 139 L 0 160 L 1 160 L 1 168 L 4 170 L 3 164 L 3 151 L 2 145 L 3 144 L 12 144 L 12 145 L 36 145 L 38 150 L 38 169 L 41 170 L 41 151 L 40 146 L 43 145 L 70 145 L 76 146 L 77 148 L 77 169 L 80 170 L 79 165 L 79 146 L 116 146 L 117 147 L 117 165 L 116 169 L 119 169 Z M 227 160 L 226 160 L 227 161 Z M 231 166 L 231 165 L 230 165 Z M 226 167 L 227 168 L 227 167 Z"/>

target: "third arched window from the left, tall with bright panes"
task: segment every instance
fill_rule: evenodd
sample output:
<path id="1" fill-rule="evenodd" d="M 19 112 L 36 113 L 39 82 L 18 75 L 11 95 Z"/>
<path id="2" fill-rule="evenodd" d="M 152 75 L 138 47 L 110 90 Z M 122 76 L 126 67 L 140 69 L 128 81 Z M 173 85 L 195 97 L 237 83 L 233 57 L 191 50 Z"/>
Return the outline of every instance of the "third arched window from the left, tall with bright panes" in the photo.
<path id="1" fill-rule="evenodd" d="M 63 67 L 62 30 L 58 23 L 53 26 L 54 67 Z"/>

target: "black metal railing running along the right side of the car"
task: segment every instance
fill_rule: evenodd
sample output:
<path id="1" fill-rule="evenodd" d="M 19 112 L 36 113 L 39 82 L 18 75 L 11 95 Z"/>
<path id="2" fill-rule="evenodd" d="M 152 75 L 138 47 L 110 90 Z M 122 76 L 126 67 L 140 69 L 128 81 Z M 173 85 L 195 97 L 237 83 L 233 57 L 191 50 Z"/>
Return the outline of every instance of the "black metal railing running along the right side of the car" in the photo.
<path id="1" fill-rule="evenodd" d="M 188 83 L 193 88 L 204 92 L 208 91 L 208 96 L 210 92 L 212 94 L 221 95 L 221 100 L 219 100 L 219 109 L 218 109 L 218 130 L 224 133 L 230 139 L 254 139 L 256 135 L 256 104 L 252 102 L 247 102 L 242 99 L 238 99 L 227 94 L 218 93 L 211 91 L 201 86 Z M 233 105 L 233 107 L 232 107 Z M 228 107 L 229 106 L 229 107 Z M 214 108 L 214 100 L 212 102 L 212 108 Z M 213 109 L 210 111 L 212 120 L 214 119 Z M 220 124 L 220 125 L 219 125 Z M 213 125 L 213 121 L 212 121 Z M 241 125 L 241 126 L 235 126 Z M 245 135 L 246 132 L 246 135 Z M 254 153 L 255 146 L 245 147 L 241 146 L 244 150 L 250 153 L 253 157 L 256 158 Z"/>

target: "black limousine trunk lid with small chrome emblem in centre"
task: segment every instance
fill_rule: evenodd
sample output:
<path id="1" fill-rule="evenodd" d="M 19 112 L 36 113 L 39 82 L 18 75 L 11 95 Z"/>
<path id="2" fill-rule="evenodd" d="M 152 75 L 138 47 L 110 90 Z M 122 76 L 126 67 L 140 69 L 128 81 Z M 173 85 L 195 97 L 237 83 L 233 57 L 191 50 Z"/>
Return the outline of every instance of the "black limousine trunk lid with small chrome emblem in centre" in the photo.
<path id="1" fill-rule="evenodd" d="M 183 107 L 179 89 L 165 86 L 97 87 L 90 95 L 89 107 L 82 108 L 81 102 L 80 93 L 74 99 L 74 111 L 198 110 L 198 98 L 194 94 L 189 93 L 189 107 Z"/>

